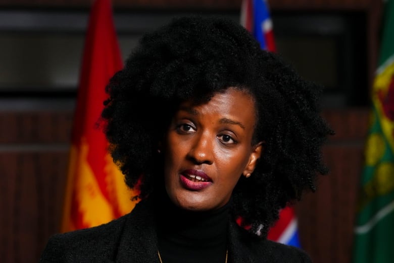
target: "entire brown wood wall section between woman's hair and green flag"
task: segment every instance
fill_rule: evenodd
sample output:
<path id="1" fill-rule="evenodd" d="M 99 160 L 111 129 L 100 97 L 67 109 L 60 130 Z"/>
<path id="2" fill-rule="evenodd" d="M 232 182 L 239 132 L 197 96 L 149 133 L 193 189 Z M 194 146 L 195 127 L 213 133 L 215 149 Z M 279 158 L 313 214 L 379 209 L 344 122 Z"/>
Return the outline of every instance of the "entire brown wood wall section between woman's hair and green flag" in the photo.
<path id="1" fill-rule="evenodd" d="M 350 263 L 369 110 L 326 111 L 324 116 L 336 131 L 323 152 L 330 172 L 296 206 L 300 242 L 314 262 Z"/>

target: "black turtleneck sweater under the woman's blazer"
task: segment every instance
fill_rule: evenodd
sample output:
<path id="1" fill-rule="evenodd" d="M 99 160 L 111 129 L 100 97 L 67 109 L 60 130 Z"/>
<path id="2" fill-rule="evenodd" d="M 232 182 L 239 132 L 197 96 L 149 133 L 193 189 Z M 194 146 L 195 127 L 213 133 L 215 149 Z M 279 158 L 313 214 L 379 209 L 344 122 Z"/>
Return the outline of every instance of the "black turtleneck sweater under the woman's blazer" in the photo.
<path id="1" fill-rule="evenodd" d="M 163 263 L 224 263 L 230 202 L 213 211 L 182 210 L 160 195 L 156 208 L 158 248 Z"/>

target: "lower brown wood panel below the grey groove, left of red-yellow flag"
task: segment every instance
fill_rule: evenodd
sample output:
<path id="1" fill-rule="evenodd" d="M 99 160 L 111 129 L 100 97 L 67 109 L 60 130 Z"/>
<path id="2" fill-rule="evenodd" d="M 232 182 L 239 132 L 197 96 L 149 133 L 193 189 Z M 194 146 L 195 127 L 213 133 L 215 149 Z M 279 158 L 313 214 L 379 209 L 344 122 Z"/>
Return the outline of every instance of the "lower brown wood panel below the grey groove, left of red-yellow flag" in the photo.
<path id="1" fill-rule="evenodd" d="M 0 153 L 0 258 L 37 262 L 59 231 L 67 170 L 66 151 Z"/>

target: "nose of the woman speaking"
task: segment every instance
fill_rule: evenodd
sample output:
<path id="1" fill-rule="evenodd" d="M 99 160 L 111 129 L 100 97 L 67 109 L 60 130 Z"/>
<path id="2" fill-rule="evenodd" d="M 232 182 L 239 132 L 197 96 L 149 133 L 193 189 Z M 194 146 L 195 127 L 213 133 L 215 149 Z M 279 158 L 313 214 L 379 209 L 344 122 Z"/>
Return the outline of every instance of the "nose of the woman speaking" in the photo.
<path id="1" fill-rule="evenodd" d="M 212 164 L 213 163 L 213 146 L 214 139 L 208 133 L 196 135 L 191 143 L 190 151 L 187 157 L 196 164 Z"/>

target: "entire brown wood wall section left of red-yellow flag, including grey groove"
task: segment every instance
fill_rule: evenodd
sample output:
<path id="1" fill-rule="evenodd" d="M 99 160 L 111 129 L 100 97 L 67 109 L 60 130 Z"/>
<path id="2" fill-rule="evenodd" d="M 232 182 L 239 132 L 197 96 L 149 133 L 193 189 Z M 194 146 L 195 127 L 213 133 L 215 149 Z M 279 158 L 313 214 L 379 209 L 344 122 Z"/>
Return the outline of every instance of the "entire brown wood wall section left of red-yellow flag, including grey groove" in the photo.
<path id="1" fill-rule="evenodd" d="M 37 262 L 59 231 L 72 115 L 0 112 L 2 262 Z"/>

